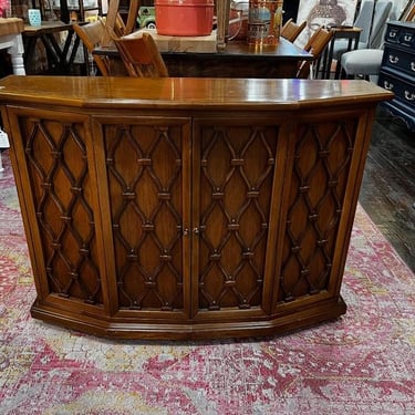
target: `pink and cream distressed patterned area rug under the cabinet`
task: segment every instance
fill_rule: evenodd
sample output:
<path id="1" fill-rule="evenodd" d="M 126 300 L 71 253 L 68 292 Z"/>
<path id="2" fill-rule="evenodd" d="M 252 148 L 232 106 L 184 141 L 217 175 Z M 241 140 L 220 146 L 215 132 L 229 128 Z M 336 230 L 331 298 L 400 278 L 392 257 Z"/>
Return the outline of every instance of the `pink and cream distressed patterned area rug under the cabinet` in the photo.
<path id="1" fill-rule="evenodd" d="M 30 318 L 7 153 L 3 165 L 1 415 L 415 414 L 415 278 L 361 207 L 338 321 L 243 341 L 115 342 Z"/>

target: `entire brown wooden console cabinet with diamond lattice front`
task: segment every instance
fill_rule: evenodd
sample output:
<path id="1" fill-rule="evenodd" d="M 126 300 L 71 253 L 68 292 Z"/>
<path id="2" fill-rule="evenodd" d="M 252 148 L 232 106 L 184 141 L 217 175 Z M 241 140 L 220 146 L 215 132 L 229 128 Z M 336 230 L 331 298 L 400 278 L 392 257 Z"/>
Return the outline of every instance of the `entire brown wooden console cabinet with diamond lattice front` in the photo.
<path id="1" fill-rule="evenodd" d="M 365 81 L 9 76 L 32 315 L 124 339 L 282 333 L 340 295 Z"/>

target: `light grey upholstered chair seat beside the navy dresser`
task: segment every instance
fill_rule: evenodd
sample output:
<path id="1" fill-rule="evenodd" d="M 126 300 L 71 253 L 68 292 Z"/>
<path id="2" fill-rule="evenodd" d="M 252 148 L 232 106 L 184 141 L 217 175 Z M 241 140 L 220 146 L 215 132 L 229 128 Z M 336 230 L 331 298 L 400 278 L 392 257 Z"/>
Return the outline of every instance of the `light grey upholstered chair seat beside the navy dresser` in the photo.
<path id="1" fill-rule="evenodd" d="M 347 75 L 377 75 L 381 71 L 382 49 L 361 49 L 342 55 L 342 69 Z"/>

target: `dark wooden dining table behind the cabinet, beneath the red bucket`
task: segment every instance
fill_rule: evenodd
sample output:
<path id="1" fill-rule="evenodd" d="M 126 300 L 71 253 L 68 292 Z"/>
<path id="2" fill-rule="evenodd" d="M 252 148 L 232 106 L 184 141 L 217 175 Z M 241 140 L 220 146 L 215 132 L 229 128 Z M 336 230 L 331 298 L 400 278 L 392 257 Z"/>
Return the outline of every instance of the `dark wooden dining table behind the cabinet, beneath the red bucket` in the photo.
<path id="1" fill-rule="evenodd" d="M 112 45 L 97 46 L 93 53 L 118 56 Z M 295 77 L 299 62 L 313 60 L 312 54 L 283 38 L 274 46 L 229 41 L 220 51 L 179 51 L 173 48 L 160 49 L 160 53 L 169 75 L 180 77 Z"/>

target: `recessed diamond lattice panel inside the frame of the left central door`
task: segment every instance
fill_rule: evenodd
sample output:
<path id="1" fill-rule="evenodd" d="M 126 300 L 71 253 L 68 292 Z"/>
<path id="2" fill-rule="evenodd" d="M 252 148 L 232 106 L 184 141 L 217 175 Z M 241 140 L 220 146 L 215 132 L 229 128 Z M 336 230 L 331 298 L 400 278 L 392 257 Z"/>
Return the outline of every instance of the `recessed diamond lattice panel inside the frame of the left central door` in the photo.
<path id="1" fill-rule="evenodd" d="M 105 128 L 120 304 L 183 309 L 181 126 Z"/>

